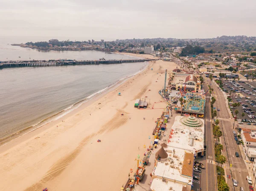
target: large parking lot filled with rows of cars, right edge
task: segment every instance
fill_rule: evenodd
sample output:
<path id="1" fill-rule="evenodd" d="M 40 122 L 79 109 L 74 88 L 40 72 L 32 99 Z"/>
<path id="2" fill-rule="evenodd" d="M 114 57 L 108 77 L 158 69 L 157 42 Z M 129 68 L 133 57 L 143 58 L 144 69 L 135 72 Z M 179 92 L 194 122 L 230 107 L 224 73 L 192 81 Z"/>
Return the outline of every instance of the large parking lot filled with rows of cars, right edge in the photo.
<path id="1" fill-rule="evenodd" d="M 238 119 L 243 121 L 246 119 L 244 123 L 256 125 L 256 83 L 230 80 L 224 80 L 223 83 L 223 89 L 231 96 L 233 103 L 240 103 L 239 107 L 232 108 L 231 106 L 233 114 L 235 115 L 235 110 L 238 110 Z"/>

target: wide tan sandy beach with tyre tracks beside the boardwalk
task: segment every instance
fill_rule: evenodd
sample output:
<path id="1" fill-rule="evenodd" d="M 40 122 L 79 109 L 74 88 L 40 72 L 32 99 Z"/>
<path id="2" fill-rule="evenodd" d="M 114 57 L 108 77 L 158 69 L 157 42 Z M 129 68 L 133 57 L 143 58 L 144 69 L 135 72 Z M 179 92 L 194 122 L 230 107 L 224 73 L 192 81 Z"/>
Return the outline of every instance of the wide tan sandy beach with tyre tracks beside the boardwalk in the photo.
<path id="1" fill-rule="evenodd" d="M 137 154 L 142 156 L 143 145 L 150 143 L 148 136 L 153 137 L 155 120 L 166 106 L 158 94 L 164 85 L 164 70 L 176 67 L 172 62 L 151 61 L 143 72 L 115 89 L 0 147 L 1 190 L 120 189 L 130 168 L 137 165 Z M 134 101 L 145 97 L 150 99 L 148 108 L 134 108 Z"/>

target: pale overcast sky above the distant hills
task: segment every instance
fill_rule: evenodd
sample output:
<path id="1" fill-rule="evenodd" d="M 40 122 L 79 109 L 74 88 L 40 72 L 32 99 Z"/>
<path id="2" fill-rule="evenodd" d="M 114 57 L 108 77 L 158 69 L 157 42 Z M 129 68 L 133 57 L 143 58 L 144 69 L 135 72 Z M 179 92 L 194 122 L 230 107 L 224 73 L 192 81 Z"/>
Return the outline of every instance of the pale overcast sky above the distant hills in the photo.
<path id="1" fill-rule="evenodd" d="M 256 36 L 256 0 L 0 0 L 0 36 Z"/>

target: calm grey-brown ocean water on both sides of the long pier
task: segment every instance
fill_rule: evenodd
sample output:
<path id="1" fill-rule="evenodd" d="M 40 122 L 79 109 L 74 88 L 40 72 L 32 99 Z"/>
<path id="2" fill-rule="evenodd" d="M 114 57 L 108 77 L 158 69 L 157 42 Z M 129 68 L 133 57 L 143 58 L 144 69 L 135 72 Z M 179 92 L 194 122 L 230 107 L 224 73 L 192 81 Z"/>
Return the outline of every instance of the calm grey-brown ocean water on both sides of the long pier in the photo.
<path id="1" fill-rule="evenodd" d="M 20 58 L 19 58 L 20 56 Z M 38 51 L 0 41 L 0 60 L 134 59 L 100 51 Z M 0 139 L 73 111 L 147 63 L 4 68 L 0 70 Z"/>

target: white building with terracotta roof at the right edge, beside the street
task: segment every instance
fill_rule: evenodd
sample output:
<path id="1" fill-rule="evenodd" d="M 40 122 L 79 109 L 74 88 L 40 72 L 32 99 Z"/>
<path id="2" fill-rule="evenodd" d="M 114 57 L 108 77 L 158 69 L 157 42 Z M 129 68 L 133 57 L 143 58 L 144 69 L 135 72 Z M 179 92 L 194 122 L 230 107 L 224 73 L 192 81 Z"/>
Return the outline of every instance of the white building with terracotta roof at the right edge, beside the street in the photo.
<path id="1" fill-rule="evenodd" d="M 243 140 L 243 150 L 250 161 L 256 158 L 256 130 L 241 128 L 241 140 Z"/>

